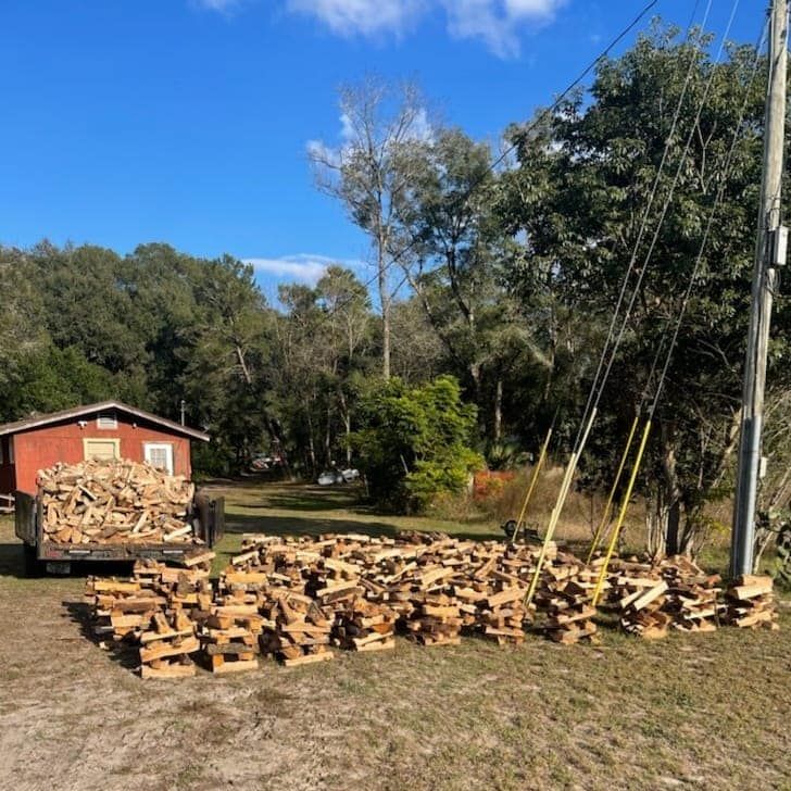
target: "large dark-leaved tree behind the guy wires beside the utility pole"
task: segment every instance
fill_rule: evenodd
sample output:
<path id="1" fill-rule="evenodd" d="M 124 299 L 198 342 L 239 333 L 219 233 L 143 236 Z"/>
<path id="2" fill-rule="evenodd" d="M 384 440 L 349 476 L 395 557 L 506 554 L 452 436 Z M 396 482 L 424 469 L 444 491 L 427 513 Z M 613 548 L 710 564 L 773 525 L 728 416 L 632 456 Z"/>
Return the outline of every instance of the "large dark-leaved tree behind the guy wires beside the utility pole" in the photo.
<path id="1" fill-rule="evenodd" d="M 602 403 L 604 425 L 628 426 L 643 393 L 653 393 L 654 360 L 658 354 L 661 369 L 662 343 L 716 211 L 645 465 L 660 552 L 694 549 L 701 507 L 732 450 L 740 400 L 763 92 L 752 48 L 732 48 L 727 62 L 715 63 L 708 43 L 705 37 L 679 43 L 677 30 L 656 27 L 622 58 L 602 62 L 590 102 L 578 97 L 560 109 L 549 134 L 515 137 L 520 168 L 513 185 L 529 193 L 537 180 L 553 183 L 541 210 L 523 215 L 522 237 L 528 265 L 552 273 L 563 305 L 606 326 L 632 254 L 641 275 Z M 645 214 L 654 183 L 657 200 Z M 529 282 L 525 269 L 517 276 Z M 636 284 L 637 276 L 627 300 Z M 787 322 L 780 311 L 776 351 L 786 347 Z M 590 348 L 586 356 L 597 357 Z M 588 463 L 612 465 L 624 435 L 594 432 Z"/>

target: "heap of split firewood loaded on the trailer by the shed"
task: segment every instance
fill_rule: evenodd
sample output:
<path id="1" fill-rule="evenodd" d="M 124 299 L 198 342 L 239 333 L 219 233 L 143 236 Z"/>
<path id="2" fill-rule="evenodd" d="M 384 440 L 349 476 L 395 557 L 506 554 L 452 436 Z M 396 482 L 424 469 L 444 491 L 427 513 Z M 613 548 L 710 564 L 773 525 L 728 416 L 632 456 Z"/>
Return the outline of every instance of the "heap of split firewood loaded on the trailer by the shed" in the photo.
<path id="1" fill-rule="evenodd" d="M 39 470 L 43 531 L 58 543 L 181 543 L 194 486 L 148 463 L 91 460 Z"/>

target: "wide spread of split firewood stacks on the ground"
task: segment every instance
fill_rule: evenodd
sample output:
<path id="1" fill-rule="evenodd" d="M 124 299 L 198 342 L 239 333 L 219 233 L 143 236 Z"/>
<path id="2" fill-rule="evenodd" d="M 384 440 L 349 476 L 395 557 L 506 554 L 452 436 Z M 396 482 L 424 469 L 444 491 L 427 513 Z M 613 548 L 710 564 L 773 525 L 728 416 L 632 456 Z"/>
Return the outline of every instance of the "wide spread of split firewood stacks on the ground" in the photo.
<path id="1" fill-rule="evenodd" d="M 143 677 L 324 662 L 336 650 L 388 651 L 401 630 L 423 645 L 479 635 L 519 645 L 526 631 L 562 643 L 594 642 L 591 601 L 603 560 L 586 565 L 547 547 L 406 533 L 281 538 L 247 536 L 240 554 L 209 580 L 214 553 L 196 550 L 173 568 L 138 562 L 131 579 L 88 580 L 93 628 L 105 642 L 139 651 Z M 717 576 L 685 557 L 614 561 L 602 608 L 643 638 L 670 629 L 711 631 L 719 623 L 777 628 L 768 577 L 746 577 L 725 597 Z"/>

